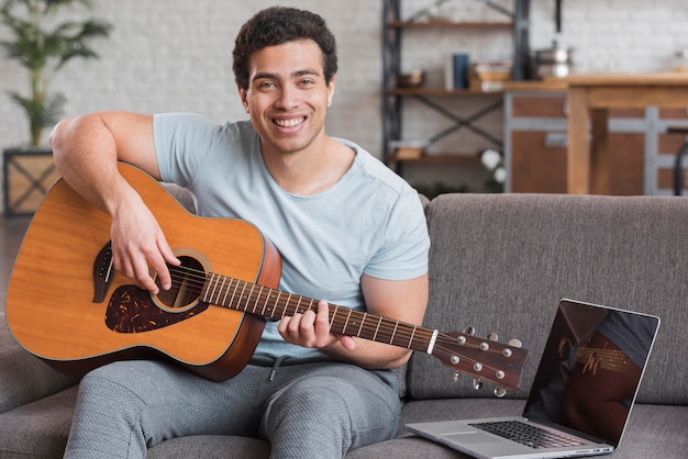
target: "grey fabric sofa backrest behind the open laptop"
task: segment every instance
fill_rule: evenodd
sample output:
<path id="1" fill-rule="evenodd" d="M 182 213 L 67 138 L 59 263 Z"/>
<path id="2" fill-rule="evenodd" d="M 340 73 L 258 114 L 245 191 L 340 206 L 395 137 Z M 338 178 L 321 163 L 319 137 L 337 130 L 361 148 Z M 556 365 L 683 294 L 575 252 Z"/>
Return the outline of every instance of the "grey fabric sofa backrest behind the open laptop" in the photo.
<path id="1" fill-rule="evenodd" d="M 688 199 L 444 194 L 426 209 L 432 242 L 425 326 L 470 325 L 531 351 L 528 394 L 562 298 L 662 318 L 639 402 L 688 404 Z M 411 396 L 490 396 L 414 352 Z M 487 384 L 486 384 L 487 385 Z"/>

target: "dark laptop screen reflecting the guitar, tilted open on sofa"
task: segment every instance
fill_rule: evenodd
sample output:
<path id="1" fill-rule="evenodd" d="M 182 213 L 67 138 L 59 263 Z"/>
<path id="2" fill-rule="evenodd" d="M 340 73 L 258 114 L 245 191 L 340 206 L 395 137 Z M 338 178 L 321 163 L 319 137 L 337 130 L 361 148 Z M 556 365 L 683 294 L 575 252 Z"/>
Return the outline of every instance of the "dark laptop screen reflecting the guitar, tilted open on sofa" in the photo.
<path id="1" fill-rule="evenodd" d="M 655 316 L 563 300 L 523 415 L 618 446 L 658 326 Z"/>

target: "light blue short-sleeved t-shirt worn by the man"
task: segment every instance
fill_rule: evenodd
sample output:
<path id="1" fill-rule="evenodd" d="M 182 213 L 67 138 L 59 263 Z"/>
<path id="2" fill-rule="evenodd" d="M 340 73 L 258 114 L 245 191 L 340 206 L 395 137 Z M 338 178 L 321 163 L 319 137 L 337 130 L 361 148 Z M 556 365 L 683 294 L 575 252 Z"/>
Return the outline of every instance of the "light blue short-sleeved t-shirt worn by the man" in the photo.
<path id="1" fill-rule="evenodd" d="M 199 215 L 242 219 L 277 247 L 285 292 L 365 310 L 363 273 L 406 280 L 428 271 L 430 239 L 418 193 L 351 142 L 337 139 L 356 152 L 340 181 L 300 197 L 273 179 L 248 121 L 220 125 L 200 115 L 158 114 L 154 137 L 163 179 L 188 188 Z M 286 343 L 275 322 L 255 354 L 322 357 Z"/>

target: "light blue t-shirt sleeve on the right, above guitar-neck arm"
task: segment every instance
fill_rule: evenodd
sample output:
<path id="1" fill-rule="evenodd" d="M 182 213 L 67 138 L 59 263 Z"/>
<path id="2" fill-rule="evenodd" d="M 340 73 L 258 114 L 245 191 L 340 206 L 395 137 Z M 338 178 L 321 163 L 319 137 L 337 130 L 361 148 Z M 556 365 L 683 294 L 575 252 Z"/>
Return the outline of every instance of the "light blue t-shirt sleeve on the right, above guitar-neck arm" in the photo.
<path id="1" fill-rule="evenodd" d="M 404 191 L 389 213 L 385 239 L 364 272 L 379 279 L 408 280 L 428 272 L 430 236 L 418 192 Z"/>

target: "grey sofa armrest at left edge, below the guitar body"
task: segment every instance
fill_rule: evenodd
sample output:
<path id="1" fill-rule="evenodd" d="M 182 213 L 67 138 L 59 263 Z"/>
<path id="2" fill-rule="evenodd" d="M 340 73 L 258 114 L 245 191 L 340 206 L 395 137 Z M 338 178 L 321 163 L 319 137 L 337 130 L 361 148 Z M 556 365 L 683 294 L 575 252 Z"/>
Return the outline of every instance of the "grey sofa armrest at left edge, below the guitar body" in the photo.
<path id="1" fill-rule="evenodd" d="M 0 313 L 0 413 L 52 395 L 77 380 L 53 370 L 12 337 Z"/>

